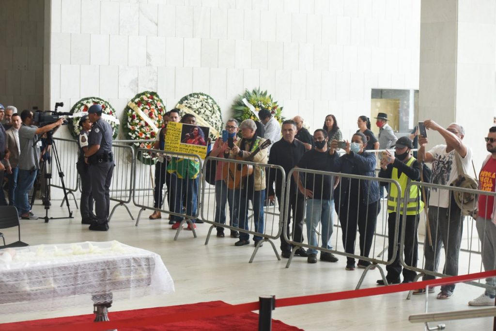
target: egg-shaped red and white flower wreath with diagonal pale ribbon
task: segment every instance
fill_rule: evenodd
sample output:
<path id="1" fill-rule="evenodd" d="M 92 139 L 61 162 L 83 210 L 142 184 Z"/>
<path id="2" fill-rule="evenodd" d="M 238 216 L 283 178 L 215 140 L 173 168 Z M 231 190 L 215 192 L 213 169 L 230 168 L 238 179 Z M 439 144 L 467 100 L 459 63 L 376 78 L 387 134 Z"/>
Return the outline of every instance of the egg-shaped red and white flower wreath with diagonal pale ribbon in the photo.
<path id="1" fill-rule="evenodd" d="M 164 102 L 156 92 L 144 91 L 136 94 L 124 110 L 124 133 L 139 148 L 152 149 L 158 131 L 162 128 L 166 113 Z M 146 141 L 141 141 L 146 140 Z M 138 159 L 151 164 L 155 160 L 149 153 L 138 153 Z"/>

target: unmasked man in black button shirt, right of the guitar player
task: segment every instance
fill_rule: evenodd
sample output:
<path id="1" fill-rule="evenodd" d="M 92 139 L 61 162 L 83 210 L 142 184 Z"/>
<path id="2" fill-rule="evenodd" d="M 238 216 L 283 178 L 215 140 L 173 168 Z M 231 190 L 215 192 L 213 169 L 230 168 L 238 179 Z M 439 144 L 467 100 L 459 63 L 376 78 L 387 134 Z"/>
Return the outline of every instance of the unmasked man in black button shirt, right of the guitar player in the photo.
<path id="1" fill-rule="evenodd" d="M 275 142 L 272 145 L 271 152 L 269 154 L 269 164 L 275 164 L 283 167 L 286 174 L 289 173 L 291 169 L 300 161 L 303 154 L 305 153 L 305 145 L 303 142 L 295 139 L 296 134 L 296 124 L 293 120 L 286 120 L 282 123 L 282 139 Z M 284 202 L 281 196 L 281 187 L 286 185 L 282 181 L 282 174 L 280 170 L 270 169 L 269 173 L 269 183 L 268 183 L 268 199 L 270 201 L 274 200 L 274 195 L 277 196 L 277 201 L 279 202 L 279 211 L 281 211 L 281 205 Z M 288 180 L 286 178 L 286 180 Z M 293 210 L 293 240 L 296 242 L 303 242 L 303 212 L 305 207 L 305 198 L 302 194 L 296 190 L 296 184 L 293 178 L 291 180 L 291 192 L 289 195 L 289 207 L 287 210 L 287 226 L 286 234 L 290 238 L 289 224 L 291 223 L 291 211 Z M 276 184 L 275 192 L 273 184 Z M 283 258 L 289 258 L 291 256 L 291 245 L 284 239 L 281 235 L 281 255 Z M 295 251 L 295 255 L 302 257 L 307 257 L 307 252 L 302 247 Z"/>

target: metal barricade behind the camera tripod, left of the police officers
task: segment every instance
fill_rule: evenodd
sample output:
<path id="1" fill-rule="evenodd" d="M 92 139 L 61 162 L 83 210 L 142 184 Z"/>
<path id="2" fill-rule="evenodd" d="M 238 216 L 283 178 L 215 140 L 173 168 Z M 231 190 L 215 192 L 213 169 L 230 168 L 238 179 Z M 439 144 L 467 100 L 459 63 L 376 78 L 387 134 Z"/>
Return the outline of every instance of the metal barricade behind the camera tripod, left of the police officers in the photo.
<path id="1" fill-rule="evenodd" d="M 78 190 L 78 183 L 79 183 L 79 174 L 77 173 L 77 169 L 76 169 L 76 163 L 78 157 L 77 141 L 73 139 L 64 139 L 64 138 L 53 138 L 53 141 L 54 141 L 54 145 L 52 146 L 52 148 L 55 148 L 58 151 L 61 173 L 57 173 L 56 165 L 52 161 L 50 163 L 51 170 L 45 169 L 45 171 L 52 173 L 50 186 L 62 190 L 62 178 L 63 178 L 65 190 L 67 191 L 67 194 L 70 194 L 72 196 L 72 199 L 74 199 L 74 203 L 76 204 L 76 208 L 78 208 L 77 200 L 76 197 L 74 196 L 74 192 Z M 41 176 L 43 176 L 43 174 L 41 174 Z M 62 199 L 61 207 L 65 202 L 65 198 L 66 197 Z"/>

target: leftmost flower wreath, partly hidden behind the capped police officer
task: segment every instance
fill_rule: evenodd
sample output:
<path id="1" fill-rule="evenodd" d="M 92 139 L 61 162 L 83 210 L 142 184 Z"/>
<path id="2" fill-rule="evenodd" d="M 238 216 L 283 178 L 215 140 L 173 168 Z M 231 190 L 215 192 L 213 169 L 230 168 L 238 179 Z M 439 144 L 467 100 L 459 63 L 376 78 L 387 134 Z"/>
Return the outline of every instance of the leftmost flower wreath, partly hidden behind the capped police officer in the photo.
<path id="1" fill-rule="evenodd" d="M 119 121 L 117 121 L 116 111 L 114 110 L 114 107 L 112 107 L 112 105 L 107 101 L 97 97 L 83 98 L 72 106 L 70 112 L 72 114 L 86 113 L 88 112 L 88 109 L 93 105 L 102 105 L 102 113 L 116 119 L 115 121 L 109 120 L 108 118 L 104 119 L 112 126 L 112 130 L 114 131 L 113 138 L 115 139 L 119 132 Z M 81 116 L 74 116 L 71 120 L 69 120 L 69 132 L 76 139 L 79 138 L 79 132 L 81 132 L 81 128 L 79 127 L 79 120 L 81 119 Z"/>

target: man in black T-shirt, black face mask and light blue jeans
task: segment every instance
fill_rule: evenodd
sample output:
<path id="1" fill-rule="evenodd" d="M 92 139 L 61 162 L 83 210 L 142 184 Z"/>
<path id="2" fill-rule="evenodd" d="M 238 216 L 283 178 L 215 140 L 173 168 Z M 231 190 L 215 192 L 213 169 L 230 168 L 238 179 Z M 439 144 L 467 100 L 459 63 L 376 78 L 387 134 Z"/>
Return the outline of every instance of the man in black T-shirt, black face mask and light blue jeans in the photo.
<path id="1" fill-rule="evenodd" d="M 327 147 L 327 132 L 323 129 L 317 129 L 313 133 L 313 142 L 315 148 L 309 150 L 298 162 L 297 168 L 335 171 L 334 163 L 338 158 L 337 153 Z M 332 152 L 332 155 L 330 154 Z M 307 198 L 307 238 L 310 246 L 317 247 L 318 240 L 316 228 L 321 223 L 321 247 L 332 249 L 331 236 L 333 227 L 333 206 L 334 198 L 332 193 L 337 186 L 338 180 L 334 176 L 319 174 L 300 174 L 295 172 L 295 181 L 298 184 L 298 190 Z M 310 248 L 308 250 L 308 263 L 317 262 L 317 250 Z M 321 252 L 320 260 L 327 262 L 337 262 L 338 259 L 329 252 Z"/>

